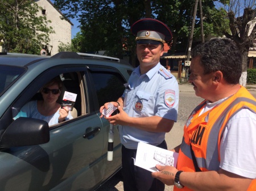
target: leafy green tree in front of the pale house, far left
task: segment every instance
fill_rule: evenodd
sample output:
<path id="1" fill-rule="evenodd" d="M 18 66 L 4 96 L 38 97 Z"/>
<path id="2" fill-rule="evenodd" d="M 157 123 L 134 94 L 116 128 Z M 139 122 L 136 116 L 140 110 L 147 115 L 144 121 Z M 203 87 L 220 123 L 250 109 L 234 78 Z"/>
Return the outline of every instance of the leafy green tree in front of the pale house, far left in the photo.
<path id="1" fill-rule="evenodd" d="M 1 0 L 0 34 L 8 52 L 39 54 L 49 42 L 52 27 L 44 16 L 37 16 L 41 8 L 34 0 Z"/>

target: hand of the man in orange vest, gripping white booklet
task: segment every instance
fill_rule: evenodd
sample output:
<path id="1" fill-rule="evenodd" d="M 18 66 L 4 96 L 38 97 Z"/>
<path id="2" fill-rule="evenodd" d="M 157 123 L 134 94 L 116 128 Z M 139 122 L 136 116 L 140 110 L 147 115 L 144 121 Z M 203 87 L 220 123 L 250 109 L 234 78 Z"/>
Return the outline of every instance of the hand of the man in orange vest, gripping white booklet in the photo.
<path id="1" fill-rule="evenodd" d="M 152 172 L 152 177 L 162 181 L 166 185 L 174 185 L 174 179 L 177 169 L 172 166 L 162 166 L 156 164 L 155 166 L 159 171 Z"/>

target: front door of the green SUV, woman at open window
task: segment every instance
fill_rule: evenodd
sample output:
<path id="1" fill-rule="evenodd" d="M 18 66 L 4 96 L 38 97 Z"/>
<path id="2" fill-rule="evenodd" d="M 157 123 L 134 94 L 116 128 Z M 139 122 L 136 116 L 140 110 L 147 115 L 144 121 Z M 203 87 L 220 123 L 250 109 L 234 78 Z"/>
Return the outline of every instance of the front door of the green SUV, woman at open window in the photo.
<path id="1" fill-rule="evenodd" d="M 35 79 L 30 79 L 30 71 L 19 79 L 19 87 L 22 80 L 31 80 L 21 94 L 15 91 L 15 84 L 10 88 L 17 98 L 0 122 L 10 125 L 13 113 L 17 113 L 43 84 L 66 73 L 78 75 L 80 114 L 51 126 L 48 143 L 1 148 L 0 190 L 93 190 L 103 179 L 104 126 L 95 111 L 96 100 L 86 67 L 65 65 L 40 72 Z M 35 75 L 35 71 L 31 73 Z"/>

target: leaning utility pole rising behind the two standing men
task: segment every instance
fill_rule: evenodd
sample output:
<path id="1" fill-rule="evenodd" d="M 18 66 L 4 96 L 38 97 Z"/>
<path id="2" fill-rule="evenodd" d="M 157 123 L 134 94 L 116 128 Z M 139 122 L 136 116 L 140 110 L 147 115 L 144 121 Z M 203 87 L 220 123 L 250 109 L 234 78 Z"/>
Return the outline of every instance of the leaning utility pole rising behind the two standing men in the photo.
<path id="1" fill-rule="evenodd" d="M 193 33 L 194 33 L 194 28 L 195 28 L 195 22 L 196 22 L 196 11 L 197 11 L 197 5 L 198 1 L 195 1 L 195 7 L 194 7 L 194 12 L 193 12 L 193 20 L 191 24 L 191 31 L 190 31 L 190 36 L 189 36 L 189 44 L 188 44 L 188 54 L 187 54 L 187 59 L 185 60 L 185 82 L 188 82 L 188 69 L 190 66 L 190 54 L 191 54 L 191 46 L 192 46 L 192 40 L 193 40 Z"/>

